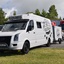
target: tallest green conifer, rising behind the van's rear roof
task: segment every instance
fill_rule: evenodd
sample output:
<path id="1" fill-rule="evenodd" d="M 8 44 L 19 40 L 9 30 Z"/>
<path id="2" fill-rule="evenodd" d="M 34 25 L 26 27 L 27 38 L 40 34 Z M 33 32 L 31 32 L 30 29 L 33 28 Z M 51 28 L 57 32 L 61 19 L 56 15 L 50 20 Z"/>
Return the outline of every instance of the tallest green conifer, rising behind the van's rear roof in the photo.
<path id="1" fill-rule="evenodd" d="M 57 10 L 55 9 L 55 5 L 52 5 L 49 8 L 48 18 L 50 18 L 50 19 L 58 19 L 58 13 L 57 13 Z"/>

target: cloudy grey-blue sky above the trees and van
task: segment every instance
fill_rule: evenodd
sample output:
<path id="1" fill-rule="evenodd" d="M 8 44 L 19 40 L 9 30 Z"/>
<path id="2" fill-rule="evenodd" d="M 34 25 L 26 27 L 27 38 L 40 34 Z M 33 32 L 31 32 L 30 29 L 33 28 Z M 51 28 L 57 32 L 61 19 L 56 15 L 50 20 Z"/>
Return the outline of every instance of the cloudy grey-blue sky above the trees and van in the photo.
<path id="1" fill-rule="evenodd" d="M 64 0 L 0 0 L 0 7 L 5 12 L 15 9 L 17 14 L 34 12 L 36 9 L 48 11 L 51 5 L 55 5 L 59 17 L 64 17 Z"/>

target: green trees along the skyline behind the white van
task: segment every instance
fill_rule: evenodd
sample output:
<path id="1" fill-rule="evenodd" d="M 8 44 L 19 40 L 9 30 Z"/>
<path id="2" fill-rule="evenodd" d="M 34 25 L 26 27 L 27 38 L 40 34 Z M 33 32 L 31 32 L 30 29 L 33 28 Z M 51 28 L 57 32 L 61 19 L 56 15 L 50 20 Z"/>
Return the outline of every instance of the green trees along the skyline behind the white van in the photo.
<path id="1" fill-rule="evenodd" d="M 27 13 L 34 13 L 36 15 L 49 18 L 51 20 L 61 20 L 61 17 L 58 18 L 58 13 L 55 5 L 51 5 L 48 12 L 46 12 L 44 9 L 42 12 L 39 11 L 39 9 L 36 9 L 35 12 L 27 12 Z M 5 12 L 2 8 L 0 8 L 0 24 L 3 24 L 7 19 L 5 19 Z M 16 15 L 16 11 L 13 12 L 13 15 Z M 64 18 L 63 18 L 64 19 Z"/>

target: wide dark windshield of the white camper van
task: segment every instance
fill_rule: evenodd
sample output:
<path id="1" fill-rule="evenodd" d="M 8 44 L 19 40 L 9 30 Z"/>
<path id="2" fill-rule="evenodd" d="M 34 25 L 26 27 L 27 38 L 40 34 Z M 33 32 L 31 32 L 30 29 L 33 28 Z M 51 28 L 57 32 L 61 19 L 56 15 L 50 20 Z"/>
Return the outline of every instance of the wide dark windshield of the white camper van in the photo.
<path id="1" fill-rule="evenodd" d="M 11 22 L 7 23 L 3 26 L 2 31 L 17 31 L 17 30 L 25 30 L 27 25 L 27 21 L 25 22 Z"/>

